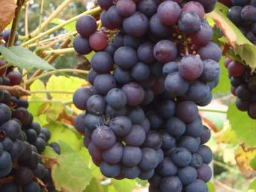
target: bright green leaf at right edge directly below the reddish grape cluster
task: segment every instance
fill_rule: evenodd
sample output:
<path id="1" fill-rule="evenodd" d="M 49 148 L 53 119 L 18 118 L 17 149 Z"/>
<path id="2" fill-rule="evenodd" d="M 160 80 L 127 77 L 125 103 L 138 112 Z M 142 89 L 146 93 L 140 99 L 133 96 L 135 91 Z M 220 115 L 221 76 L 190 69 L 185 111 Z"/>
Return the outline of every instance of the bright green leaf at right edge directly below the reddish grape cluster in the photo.
<path id="1" fill-rule="evenodd" d="M 227 118 L 240 141 L 247 146 L 256 146 L 256 140 L 252 137 L 252 135 L 256 135 L 256 121 L 254 119 L 249 118 L 246 112 L 239 111 L 235 104 L 229 106 Z"/>

